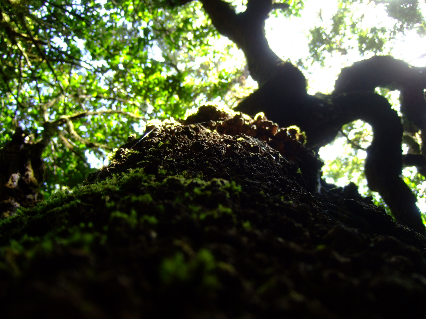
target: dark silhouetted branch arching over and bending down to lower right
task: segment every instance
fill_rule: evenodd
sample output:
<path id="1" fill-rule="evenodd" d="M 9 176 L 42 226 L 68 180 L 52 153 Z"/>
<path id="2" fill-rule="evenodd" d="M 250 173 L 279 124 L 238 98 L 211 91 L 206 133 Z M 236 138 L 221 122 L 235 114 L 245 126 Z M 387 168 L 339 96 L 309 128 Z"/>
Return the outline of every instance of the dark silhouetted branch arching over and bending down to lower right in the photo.
<path id="1" fill-rule="evenodd" d="M 386 98 L 365 91 L 334 97 L 292 94 L 290 84 L 268 81 L 236 110 L 252 115 L 263 111 L 281 127 L 298 125 L 306 132 L 308 147 L 315 150 L 331 142 L 346 123 L 368 122 L 373 128 L 365 164 L 368 186 L 380 193 L 397 220 L 424 234 L 417 199 L 400 178 L 403 127 Z"/>

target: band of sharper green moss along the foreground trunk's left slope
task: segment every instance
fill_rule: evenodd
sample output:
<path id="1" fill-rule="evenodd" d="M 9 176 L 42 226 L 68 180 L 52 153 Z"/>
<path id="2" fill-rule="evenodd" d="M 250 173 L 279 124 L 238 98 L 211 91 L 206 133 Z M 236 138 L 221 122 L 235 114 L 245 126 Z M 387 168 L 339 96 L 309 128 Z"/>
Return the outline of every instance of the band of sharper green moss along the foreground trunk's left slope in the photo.
<path id="1" fill-rule="evenodd" d="M 57 191 L 35 208 L 3 219 L 0 244 L 3 252 L 10 248 L 14 254 L 47 253 L 55 245 L 90 251 L 93 245 L 105 243 L 111 232 L 124 236 L 127 229 L 166 225 L 173 222 L 173 216 L 179 219 L 185 212 L 200 221 L 223 219 L 234 225 L 236 215 L 229 200 L 240 193 L 239 185 L 225 179 L 205 181 L 202 176 L 192 178 L 183 172 L 158 180 L 135 168 L 93 184 Z M 170 196 L 172 201 L 167 199 Z M 25 249 L 18 249 L 23 243 Z"/>

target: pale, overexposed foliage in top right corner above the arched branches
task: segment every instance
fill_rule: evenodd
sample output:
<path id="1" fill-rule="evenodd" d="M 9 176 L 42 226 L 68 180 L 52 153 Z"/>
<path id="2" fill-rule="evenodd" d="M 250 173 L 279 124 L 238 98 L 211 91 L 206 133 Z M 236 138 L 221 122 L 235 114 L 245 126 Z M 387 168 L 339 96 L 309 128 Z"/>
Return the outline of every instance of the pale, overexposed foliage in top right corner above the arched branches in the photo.
<path id="1" fill-rule="evenodd" d="M 358 10 L 364 5 L 365 11 Z M 370 26 L 366 22 L 366 11 L 385 8 L 388 17 L 393 20 L 393 27 L 381 26 L 383 23 L 374 21 L 378 26 Z M 339 1 L 336 14 L 331 23 L 322 19 L 318 13 L 318 26 L 313 28 L 309 53 L 311 63 L 319 62 L 324 66 L 324 60 L 329 55 L 348 54 L 349 50 L 358 48 L 361 56 L 367 52 L 380 54 L 385 51 L 385 43 L 395 40 L 397 34 L 416 29 L 418 34 L 425 34 L 425 18 L 420 10 L 419 1 L 381 1 L 381 0 L 342 0 Z M 354 41 L 355 40 L 355 41 Z M 355 46 L 357 43 L 357 46 Z"/>

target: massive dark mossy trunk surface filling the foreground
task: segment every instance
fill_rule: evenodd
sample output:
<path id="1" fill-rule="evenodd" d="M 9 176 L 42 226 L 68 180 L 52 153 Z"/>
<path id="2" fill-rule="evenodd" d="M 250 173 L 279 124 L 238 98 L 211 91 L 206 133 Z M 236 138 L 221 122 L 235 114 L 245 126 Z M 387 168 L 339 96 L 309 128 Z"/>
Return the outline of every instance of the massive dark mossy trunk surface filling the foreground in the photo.
<path id="1" fill-rule="evenodd" d="M 149 127 L 0 222 L 2 318 L 423 318 L 425 237 L 318 193 L 303 140 L 212 106 Z"/>

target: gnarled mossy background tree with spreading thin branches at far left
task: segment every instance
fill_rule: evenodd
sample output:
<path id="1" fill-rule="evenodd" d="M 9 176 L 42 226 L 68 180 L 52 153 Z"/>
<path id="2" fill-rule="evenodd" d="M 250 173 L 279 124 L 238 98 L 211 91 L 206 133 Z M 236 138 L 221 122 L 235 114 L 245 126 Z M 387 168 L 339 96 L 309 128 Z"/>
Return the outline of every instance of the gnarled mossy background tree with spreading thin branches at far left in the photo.
<path id="1" fill-rule="evenodd" d="M 87 97 L 90 98 L 87 95 L 78 96 L 78 98 Z M 55 100 L 49 103 L 55 103 Z M 42 200 L 40 188 L 47 173 L 42 154 L 51 143 L 52 137 L 58 136 L 66 148 L 85 161 L 84 157 L 73 149 L 74 147 L 63 135 L 63 131 L 60 129 L 62 125 L 66 124 L 70 135 L 78 142 L 85 144 L 86 147 L 112 149 L 107 145 L 81 137 L 75 131 L 72 123 L 72 120 L 75 119 L 101 114 L 124 114 L 128 117 L 140 118 L 121 110 L 81 111 L 71 115 L 62 115 L 56 120 L 46 120 L 43 123 L 43 133 L 36 138 L 20 127 L 15 129 L 11 141 L 6 142 L 0 149 L 0 219 L 10 216 L 19 207 L 32 207 Z M 48 118 L 48 115 L 45 115 Z"/>

